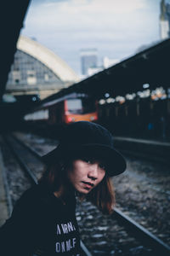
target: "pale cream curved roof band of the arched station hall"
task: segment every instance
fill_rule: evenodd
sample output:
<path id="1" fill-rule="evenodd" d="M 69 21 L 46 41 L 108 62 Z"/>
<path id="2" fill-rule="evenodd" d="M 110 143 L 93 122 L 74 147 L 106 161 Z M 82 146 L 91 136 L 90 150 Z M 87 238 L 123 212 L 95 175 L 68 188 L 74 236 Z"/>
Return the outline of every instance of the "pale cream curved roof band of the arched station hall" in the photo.
<path id="1" fill-rule="evenodd" d="M 69 67 L 65 61 L 61 60 L 53 51 L 46 48 L 37 41 L 25 36 L 20 36 L 17 49 L 41 61 L 46 67 L 56 74 L 63 82 L 77 82 L 79 80 L 77 74 Z"/>

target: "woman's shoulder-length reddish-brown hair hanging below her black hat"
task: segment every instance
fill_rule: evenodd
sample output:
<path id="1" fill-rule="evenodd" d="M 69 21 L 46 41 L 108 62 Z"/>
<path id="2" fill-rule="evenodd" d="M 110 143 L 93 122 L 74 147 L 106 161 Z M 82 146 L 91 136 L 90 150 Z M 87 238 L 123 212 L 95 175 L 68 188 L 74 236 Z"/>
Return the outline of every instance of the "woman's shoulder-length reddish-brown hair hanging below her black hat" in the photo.
<path id="1" fill-rule="evenodd" d="M 65 164 L 59 161 L 55 164 L 48 165 L 39 180 L 39 183 L 44 183 L 52 192 L 58 191 L 62 186 L 65 190 L 70 186 L 65 170 L 71 165 L 72 160 L 66 160 Z M 65 191 L 66 192 L 66 191 Z M 80 200 L 87 198 L 88 201 L 94 203 L 96 207 L 103 213 L 111 214 L 115 205 L 115 192 L 111 183 L 111 177 L 105 174 L 103 180 L 92 189 L 88 195 L 78 194 Z"/>

